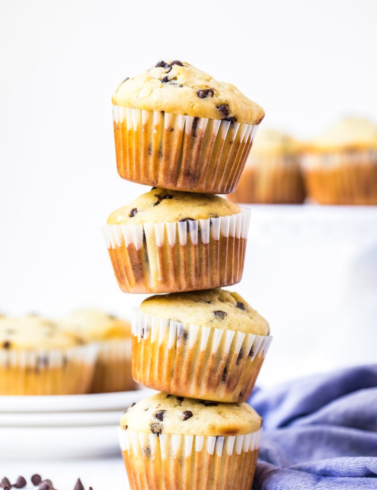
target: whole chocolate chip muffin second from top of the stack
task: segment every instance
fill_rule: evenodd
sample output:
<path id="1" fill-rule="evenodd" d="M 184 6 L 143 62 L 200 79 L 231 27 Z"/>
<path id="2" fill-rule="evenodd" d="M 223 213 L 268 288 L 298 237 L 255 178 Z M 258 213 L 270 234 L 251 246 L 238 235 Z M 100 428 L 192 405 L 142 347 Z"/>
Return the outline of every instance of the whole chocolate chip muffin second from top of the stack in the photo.
<path id="1" fill-rule="evenodd" d="M 249 213 L 218 195 L 152 188 L 103 227 L 120 288 L 159 293 L 239 282 Z"/>

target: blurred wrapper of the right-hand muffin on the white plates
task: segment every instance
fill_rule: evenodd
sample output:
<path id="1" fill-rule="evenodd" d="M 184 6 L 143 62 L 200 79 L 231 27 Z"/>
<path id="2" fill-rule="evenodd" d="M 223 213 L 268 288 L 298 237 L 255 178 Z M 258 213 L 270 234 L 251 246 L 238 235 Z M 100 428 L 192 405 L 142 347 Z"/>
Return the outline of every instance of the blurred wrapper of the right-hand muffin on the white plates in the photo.
<path id="1" fill-rule="evenodd" d="M 131 374 L 131 338 L 100 342 L 90 393 L 135 389 Z"/>

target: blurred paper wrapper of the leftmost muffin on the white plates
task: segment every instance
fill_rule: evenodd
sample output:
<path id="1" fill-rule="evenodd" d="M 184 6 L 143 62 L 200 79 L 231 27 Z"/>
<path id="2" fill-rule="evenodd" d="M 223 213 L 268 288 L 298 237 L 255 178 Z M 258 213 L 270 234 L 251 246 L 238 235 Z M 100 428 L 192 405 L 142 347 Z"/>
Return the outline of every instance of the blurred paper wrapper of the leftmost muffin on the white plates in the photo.
<path id="1" fill-rule="evenodd" d="M 0 349 L 0 395 L 88 393 L 97 344 L 66 349 Z"/>

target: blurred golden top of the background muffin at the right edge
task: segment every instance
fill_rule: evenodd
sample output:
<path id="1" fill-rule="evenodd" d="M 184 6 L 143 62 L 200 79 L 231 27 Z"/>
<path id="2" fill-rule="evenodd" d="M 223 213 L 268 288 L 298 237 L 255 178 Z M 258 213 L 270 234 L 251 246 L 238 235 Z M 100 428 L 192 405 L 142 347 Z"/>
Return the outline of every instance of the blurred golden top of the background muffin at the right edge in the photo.
<path id="1" fill-rule="evenodd" d="M 377 125 L 363 118 L 343 118 L 308 143 L 314 151 L 377 149 Z"/>

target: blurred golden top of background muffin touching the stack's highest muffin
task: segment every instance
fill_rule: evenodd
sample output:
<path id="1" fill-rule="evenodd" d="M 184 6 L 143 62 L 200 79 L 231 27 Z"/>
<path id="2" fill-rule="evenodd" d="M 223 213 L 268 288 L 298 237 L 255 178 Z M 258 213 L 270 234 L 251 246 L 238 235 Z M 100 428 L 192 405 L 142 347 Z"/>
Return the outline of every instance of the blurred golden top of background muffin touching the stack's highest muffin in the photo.
<path id="1" fill-rule="evenodd" d="M 295 155 L 302 151 L 303 144 L 289 135 L 272 128 L 259 128 L 253 141 L 249 158 L 254 155 Z"/>

